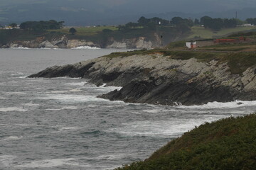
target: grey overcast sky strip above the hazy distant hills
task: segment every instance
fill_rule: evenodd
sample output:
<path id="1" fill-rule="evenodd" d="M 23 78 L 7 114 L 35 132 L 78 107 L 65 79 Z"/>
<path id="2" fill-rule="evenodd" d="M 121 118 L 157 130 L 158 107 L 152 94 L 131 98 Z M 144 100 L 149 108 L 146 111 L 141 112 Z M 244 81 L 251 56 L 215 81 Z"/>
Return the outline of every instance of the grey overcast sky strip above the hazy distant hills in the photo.
<path id="1" fill-rule="evenodd" d="M 18 4 L 52 4 L 60 7 L 85 8 L 98 11 L 118 8 L 137 13 L 151 12 L 205 12 L 225 11 L 233 8 L 256 7 L 255 0 L 0 0 L 0 6 Z"/>

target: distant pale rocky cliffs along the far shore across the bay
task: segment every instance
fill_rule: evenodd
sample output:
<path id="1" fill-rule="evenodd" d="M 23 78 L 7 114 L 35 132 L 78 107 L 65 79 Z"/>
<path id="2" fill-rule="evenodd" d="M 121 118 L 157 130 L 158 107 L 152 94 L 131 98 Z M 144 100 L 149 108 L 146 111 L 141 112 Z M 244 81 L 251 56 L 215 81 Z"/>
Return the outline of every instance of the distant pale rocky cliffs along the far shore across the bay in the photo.
<path id="1" fill-rule="evenodd" d="M 14 41 L 10 42 L 9 45 L 4 45 L 4 47 L 29 47 L 29 48 L 75 48 L 81 46 L 90 47 L 101 47 L 101 48 L 134 48 L 134 49 L 149 49 L 154 46 L 151 41 L 145 40 L 144 37 L 124 39 L 124 40 L 108 40 L 104 45 L 98 42 L 92 42 L 88 40 L 68 40 L 68 38 L 63 35 L 61 38 L 56 38 L 53 40 L 45 40 L 45 38 L 38 38 L 37 40 L 29 41 Z"/>

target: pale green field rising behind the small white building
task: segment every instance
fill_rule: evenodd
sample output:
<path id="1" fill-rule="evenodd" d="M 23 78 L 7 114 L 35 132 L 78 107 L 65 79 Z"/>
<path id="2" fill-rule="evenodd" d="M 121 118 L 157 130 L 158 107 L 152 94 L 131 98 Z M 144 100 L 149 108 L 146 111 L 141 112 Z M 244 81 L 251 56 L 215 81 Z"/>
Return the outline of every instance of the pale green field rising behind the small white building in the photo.
<path id="1" fill-rule="evenodd" d="M 200 39 L 208 39 L 208 38 L 218 38 L 224 37 L 231 33 L 238 33 L 242 31 L 255 31 L 255 26 L 247 26 L 247 27 L 236 27 L 236 28 L 225 28 L 220 31 L 213 31 L 210 29 L 206 29 L 200 26 L 193 26 L 191 28 L 192 34 L 188 36 L 188 39 L 200 38 Z"/>

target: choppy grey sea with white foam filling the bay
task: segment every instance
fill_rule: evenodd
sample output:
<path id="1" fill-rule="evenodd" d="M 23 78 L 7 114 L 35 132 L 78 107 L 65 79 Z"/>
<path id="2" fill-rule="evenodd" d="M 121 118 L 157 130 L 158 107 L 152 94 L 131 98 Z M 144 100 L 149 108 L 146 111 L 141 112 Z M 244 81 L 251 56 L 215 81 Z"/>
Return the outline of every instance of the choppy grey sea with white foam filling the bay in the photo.
<path id="1" fill-rule="evenodd" d="M 0 169 L 114 169 L 146 159 L 195 126 L 256 111 L 256 101 L 178 107 L 107 101 L 96 96 L 120 87 L 26 78 L 114 51 L 0 49 Z"/>

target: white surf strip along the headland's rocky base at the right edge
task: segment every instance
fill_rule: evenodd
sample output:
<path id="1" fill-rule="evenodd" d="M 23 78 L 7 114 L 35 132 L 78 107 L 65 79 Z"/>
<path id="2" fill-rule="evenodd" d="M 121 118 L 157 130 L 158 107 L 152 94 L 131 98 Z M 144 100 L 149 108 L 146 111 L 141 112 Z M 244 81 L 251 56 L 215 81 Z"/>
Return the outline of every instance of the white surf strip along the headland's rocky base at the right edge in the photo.
<path id="1" fill-rule="evenodd" d="M 179 106 L 181 108 L 240 108 L 244 106 L 256 106 L 256 101 L 231 101 L 231 102 L 209 102 L 201 106 Z"/>

